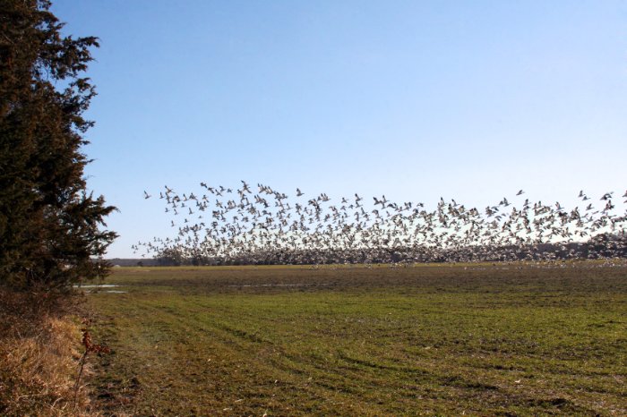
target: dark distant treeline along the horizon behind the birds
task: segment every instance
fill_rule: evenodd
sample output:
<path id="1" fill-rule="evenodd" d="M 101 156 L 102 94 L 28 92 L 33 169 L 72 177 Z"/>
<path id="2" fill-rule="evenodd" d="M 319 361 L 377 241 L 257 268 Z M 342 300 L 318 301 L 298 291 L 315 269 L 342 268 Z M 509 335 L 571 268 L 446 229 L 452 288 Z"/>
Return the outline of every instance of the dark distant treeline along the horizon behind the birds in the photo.
<path id="1" fill-rule="evenodd" d="M 203 265 L 316 265 L 414 262 L 480 262 L 513 260 L 571 260 L 627 258 L 627 236 L 600 234 L 585 243 L 541 243 L 500 247 L 470 246 L 442 250 L 435 247 L 396 247 L 385 249 L 341 249 L 242 253 L 231 257 L 183 256 L 183 251 L 168 249 L 153 260 L 121 260 L 120 266 L 203 266 Z"/>

